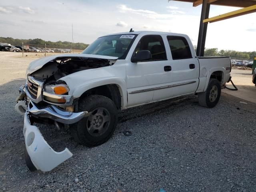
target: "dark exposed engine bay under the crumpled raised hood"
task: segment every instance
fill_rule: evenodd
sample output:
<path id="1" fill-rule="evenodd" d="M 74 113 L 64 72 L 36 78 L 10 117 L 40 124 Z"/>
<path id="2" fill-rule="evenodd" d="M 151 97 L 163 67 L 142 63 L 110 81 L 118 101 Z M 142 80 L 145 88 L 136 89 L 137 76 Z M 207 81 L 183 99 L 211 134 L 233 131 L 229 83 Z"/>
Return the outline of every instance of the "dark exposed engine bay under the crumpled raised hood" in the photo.
<path id="1" fill-rule="evenodd" d="M 30 74 L 30 76 L 43 80 L 46 83 L 56 80 L 69 74 L 82 70 L 111 66 L 114 60 L 88 57 L 57 57 L 46 63 L 42 68 Z M 57 81 L 56 84 L 63 83 Z"/>

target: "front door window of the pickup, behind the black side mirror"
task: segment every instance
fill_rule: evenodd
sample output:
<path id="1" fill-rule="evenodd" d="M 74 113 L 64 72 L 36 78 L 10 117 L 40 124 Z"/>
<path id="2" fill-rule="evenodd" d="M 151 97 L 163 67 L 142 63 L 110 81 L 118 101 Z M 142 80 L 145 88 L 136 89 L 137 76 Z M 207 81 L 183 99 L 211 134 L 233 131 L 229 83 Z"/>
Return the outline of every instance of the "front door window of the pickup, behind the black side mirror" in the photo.
<path id="1" fill-rule="evenodd" d="M 138 42 L 133 56 L 141 50 L 148 50 L 152 54 L 152 59 L 147 61 L 167 60 L 164 42 L 160 35 L 145 35 Z"/>

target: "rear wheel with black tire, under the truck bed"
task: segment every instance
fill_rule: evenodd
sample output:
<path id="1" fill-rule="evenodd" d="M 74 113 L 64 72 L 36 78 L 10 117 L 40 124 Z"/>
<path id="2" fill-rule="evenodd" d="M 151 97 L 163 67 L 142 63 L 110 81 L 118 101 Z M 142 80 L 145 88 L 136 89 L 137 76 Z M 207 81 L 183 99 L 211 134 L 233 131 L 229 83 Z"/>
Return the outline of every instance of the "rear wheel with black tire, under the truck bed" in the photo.
<path id="1" fill-rule="evenodd" d="M 217 92 L 215 88 L 217 89 Z M 213 94 L 212 94 L 212 91 L 214 91 Z M 215 92 L 216 92 L 216 98 L 215 98 Z M 220 94 L 221 94 L 220 82 L 216 79 L 210 79 L 206 91 L 202 93 L 198 93 L 198 102 L 203 107 L 213 108 L 217 105 L 218 101 L 220 100 Z"/>

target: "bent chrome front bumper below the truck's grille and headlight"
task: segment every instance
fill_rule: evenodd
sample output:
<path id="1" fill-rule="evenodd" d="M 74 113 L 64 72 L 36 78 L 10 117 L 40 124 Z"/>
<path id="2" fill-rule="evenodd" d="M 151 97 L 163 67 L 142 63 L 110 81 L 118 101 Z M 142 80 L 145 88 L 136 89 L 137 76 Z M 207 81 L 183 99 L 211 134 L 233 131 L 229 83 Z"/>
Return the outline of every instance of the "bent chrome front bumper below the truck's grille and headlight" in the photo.
<path id="1" fill-rule="evenodd" d="M 61 110 L 60 108 L 50 105 L 46 108 L 38 108 L 32 101 L 28 104 L 28 112 L 43 118 L 50 118 L 54 121 L 64 123 L 64 124 L 73 124 L 80 121 L 84 116 L 89 115 L 87 111 L 84 112 L 68 112 Z"/>

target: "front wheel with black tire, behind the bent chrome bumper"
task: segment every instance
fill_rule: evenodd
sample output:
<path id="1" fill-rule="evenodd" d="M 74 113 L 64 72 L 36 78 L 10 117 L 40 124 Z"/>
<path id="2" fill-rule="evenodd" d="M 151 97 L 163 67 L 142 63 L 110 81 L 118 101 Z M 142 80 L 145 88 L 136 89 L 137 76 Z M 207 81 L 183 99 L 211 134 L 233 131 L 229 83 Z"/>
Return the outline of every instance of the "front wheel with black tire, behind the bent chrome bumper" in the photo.
<path id="1" fill-rule="evenodd" d="M 104 110 L 102 112 L 103 119 L 105 113 L 109 121 L 105 122 L 100 116 L 98 120 L 101 119 L 99 123 L 102 128 L 100 130 L 94 130 L 95 126 L 98 125 L 92 125 L 92 123 L 96 123 L 96 117 L 98 117 L 96 115 L 99 114 L 99 109 Z M 91 95 L 79 101 L 78 110 L 92 112 L 92 114 L 70 126 L 70 132 L 76 142 L 92 147 L 103 144 L 112 136 L 118 122 L 118 110 L 112 100 L 105 96 Z"/>

